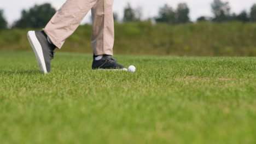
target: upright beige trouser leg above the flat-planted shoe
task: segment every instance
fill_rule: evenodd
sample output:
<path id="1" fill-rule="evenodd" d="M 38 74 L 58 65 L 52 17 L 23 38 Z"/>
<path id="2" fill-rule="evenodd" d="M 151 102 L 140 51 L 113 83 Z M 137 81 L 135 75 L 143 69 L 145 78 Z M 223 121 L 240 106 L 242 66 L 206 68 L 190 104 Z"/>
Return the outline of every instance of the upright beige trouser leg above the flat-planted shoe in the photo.
<path id="1" fill-rule="evenodd" d="M 91 45 L 94 55 L 113 55 L 114 45 L 114 0 L 99 0 L 91 9 Z"/>

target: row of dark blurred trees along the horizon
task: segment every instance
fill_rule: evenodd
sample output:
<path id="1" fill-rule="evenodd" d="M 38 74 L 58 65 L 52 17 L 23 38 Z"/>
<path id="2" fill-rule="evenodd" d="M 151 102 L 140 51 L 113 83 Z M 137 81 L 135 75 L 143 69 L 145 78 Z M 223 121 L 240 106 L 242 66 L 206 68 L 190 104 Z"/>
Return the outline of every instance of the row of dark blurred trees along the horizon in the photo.
<path id="1" fill-rule="evenodd" d="M 250 12 L 246 10 L 239 14 L 231 13 L 229 2 L 222 0 L 213 0 L 211 3 L 213 17 L 200 16 L 197 21 L 209 22 L 225 22 L 225 21 L 242 21 L 256 22 L 256 4 L 253 4 Z M 49 3 L 42 5 L 34 5 L 28 10 L 22 10 L 21 17 L 15 21 L 11 28 L 40 28 L 44 27 L 51 17 L 56 13 L 56 10 Z M 179 24 L 191 22 L 189 17 L 190 9 L 186 3 L 179 3 L 176 9 L 165 4 L 159 9 L 158 16 L 149 18 L 155 22 L 165 22 L 170 24 Z M 118 14 L 114 13 L 115 21 L 136 22 L 142 21 L 142 8 L 132 8 L 128 3 L 124 8 L 123 19 L 119 19 Z M 0 10 L 0 29 L 7 28 L 8 23 L 4 18 L 3 10 Z"/>

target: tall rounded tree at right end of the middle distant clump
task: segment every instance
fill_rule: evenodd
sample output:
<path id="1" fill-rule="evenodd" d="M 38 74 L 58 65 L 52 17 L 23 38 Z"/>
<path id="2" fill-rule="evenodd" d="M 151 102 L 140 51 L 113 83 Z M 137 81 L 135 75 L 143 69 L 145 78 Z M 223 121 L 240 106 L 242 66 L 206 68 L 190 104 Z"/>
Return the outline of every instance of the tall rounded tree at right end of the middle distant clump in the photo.
<path id="1" fill-rule="evenodd" d="M 179 3 L 177 10 L 177 23 L 186 23 L 189 22 L 189 8 L 185 3 Z"/>

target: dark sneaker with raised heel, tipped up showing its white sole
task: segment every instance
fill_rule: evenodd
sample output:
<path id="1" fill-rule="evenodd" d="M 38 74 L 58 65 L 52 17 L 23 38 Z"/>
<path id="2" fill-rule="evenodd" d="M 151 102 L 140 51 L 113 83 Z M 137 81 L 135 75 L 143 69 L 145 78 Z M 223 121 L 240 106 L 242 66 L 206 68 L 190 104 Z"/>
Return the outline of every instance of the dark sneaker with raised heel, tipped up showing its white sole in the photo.
<path id="1" fill-rule="evenodd" d="M 41 72 L 43 74 L 50 73 L 51 59 L 54 58 L 54 49 L 56 46 L 48 42 L 47 35 L 43 31 L 29 31 L 27 38 L 36 55 Z"/>

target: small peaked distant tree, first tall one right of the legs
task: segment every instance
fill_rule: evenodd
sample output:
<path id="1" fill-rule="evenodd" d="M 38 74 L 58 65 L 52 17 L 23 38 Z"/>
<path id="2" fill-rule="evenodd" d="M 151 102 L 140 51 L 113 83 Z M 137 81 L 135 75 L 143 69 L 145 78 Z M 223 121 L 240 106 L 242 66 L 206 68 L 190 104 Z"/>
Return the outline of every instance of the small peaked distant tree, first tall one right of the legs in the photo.
<path id="1" fill-rule="evenodd" d="M 133 9 L 131 4 L 128 3 L 124 9 L 124 22 L 134 22 L 134 21 L 141 21 L 141 14 L 138 14 L 138 10 Z"/>

